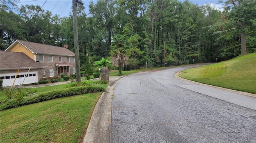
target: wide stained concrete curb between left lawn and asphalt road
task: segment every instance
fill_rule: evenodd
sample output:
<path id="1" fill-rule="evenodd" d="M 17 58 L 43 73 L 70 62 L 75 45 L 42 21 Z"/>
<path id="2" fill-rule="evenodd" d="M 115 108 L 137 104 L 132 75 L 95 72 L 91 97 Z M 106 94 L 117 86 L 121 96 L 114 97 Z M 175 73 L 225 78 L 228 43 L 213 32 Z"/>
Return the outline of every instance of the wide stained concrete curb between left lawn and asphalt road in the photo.
<path id="1" fill-rule="evenodd" d="M 111 104 L 114 88 L 125 76 L 111 81 L 98 100 L 82 143 L 109 143 L 111 125 Z"/>

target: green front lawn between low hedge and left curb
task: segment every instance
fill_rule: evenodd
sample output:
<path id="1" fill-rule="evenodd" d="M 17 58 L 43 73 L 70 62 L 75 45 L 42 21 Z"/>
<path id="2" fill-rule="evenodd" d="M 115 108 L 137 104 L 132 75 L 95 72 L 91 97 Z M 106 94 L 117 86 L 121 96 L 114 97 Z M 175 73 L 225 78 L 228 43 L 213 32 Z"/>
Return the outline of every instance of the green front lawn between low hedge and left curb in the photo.
<path id="1" fill-rule="evenodd" d="M 102 93 L 1 111 L 1 143 L 79 143 Z"/>

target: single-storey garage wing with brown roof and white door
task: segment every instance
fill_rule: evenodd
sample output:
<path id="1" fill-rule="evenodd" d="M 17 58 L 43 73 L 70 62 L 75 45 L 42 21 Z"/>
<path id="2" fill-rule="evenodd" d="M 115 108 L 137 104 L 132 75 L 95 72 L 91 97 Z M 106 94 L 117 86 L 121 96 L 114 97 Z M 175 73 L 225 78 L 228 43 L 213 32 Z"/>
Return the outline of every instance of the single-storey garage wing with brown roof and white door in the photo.
<path id="1" fill-rule="evenodd" d="M 14 85 L 36 83 L 38 74 L 42 74 L 40 72 L 45 68 L 44 65 L 19 52 L 0 51 L 0 59 L 0 78 L 3 80 L 3 86 L 12 86 L 14 80 Z"/>

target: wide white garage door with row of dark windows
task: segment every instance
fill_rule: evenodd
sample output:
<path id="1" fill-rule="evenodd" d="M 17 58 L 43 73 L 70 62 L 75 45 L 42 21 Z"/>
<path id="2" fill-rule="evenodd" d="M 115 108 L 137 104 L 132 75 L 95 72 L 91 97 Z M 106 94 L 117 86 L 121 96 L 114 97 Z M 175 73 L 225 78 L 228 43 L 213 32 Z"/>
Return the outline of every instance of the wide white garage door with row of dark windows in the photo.
<path id="1" fill-rule="evenodd" d="M 3 80 L 3 86 L 12 86 L 17 73 L 1 73 L 0 78 Z M 14 85 L 31 84 L 38 82 L 37 71 L 19 72 Z"/>

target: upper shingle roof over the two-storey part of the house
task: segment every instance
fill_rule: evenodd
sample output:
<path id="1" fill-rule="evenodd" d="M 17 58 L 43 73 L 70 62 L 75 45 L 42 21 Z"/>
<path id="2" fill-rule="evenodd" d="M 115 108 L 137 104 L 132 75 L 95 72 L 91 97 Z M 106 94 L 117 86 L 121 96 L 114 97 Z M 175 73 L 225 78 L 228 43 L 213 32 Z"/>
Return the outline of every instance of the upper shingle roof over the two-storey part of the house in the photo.
<path id="1" fill-rule="evenodd" d="M 17 40 L 22 45 L 30 49 L 34 53 L 47 54 L 47 55 L 66 55 L 75 56 L 75 53 L 64 47 L 57 47 L 51 45 L 45 45 L 40 43 L 34 43 L 29 41 Z"/>

